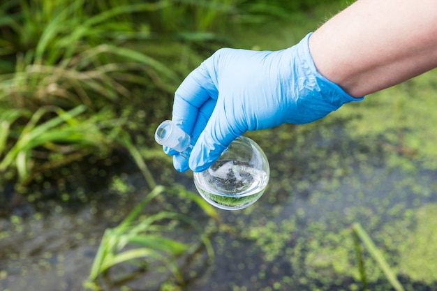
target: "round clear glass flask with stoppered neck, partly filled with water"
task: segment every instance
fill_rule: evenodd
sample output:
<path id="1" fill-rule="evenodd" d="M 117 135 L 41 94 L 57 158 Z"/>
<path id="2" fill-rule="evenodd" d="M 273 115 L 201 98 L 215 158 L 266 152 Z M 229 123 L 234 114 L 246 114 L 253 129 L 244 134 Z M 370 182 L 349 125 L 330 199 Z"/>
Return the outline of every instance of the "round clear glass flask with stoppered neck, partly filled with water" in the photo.
<path id="1" fill-rule="evenodd" d="M 170 147 L 188 159 L 191 137 L 166 120 L 155 132 L 158 144 Z M 237 137 L 207 170 L 194 172 L 200 195 L 220 209 L 237 210 L 256 202 L 269 182 L 269 162 L 264 151 L 248 137 Z"/>

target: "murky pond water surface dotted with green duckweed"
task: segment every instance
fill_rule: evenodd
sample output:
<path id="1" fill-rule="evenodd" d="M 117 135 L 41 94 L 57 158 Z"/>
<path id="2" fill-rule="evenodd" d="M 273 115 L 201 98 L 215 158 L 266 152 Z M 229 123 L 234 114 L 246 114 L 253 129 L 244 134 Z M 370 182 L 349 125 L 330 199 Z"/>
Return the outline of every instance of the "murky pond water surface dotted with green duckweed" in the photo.
<path id="1" fill-rule="evenodd" d="M 369 233 L 406 290 L 436 290 L 437 171 L 418 167 L 414 156 L 399 154 L 392 163 L 381 144 L 353 139 L 337 122 L 301 128 L 251 136 L 269 158 L 267 191 L 248 209 L 217 210 L 214 261 L 207 264 L 201 253 L 184 265 L 186 286 L 168 290 L 361 290 L 353 223 Z M 194 191 L 189 174 L 175 177 Z M 131 170 L 128 195 L 102 184 L 92 203 L 69 208 L 54 200 L 44 213 L 25 204 L 3 216 L 0 290 L 83 290 L 103 231 L 144 197 L 142 181 Z M 210 222 L 195 206 L 188 212 Z M 192 232 L 178 235 L 184 234 Z M 369 288 L 390 290 L 363 253 Z M 158 290 L 145 288 L 154 276 L 141 274 L 108 290 Z"/>

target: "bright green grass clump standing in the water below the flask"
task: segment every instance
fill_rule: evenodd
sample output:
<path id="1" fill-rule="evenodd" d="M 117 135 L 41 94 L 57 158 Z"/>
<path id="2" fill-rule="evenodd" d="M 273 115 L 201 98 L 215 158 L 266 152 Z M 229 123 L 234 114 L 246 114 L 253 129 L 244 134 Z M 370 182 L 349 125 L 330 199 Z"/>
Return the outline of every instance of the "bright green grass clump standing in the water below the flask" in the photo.
<path id="1" fill-rule="evenodd" d="M 154 225 L 158 221 L 167 219 L 170 221 L 185 221 L 192 225 L 199 233 L 202 233 L 200 225 L 188 216 L 168 211 L 161 211 L 137 221 L 140 211 L 145 207 L 145 204 L 150 202 L 156 195 L 159 195 L 164 189 L 163 186 L 156 186 L 131 211 L 124 221 L 112 230 L 105 231 L 91 267 L 89 281 L 95 281 L 99 274 L 104 273 L 115 264 L 140 258 L 158 259 L 160 262 L 165 263 L 177 280 L 182 280 L 177 264 L 174 261 L 175 255 L 181 255 L 186 252 L 191 253 L 194 249 L 193 246 L 197 249 L 198 245 L 189 246 L 174 239 L 163 237 L 163 232 L 160 232 Z M 201 235 L 200 241 L 206 246 L 209 258 L 212 258 L 212 246 L 205 234 Z M 128 244 L 140 246 L 140 248 L 129 248 L 126 251 L 122 251 Z"/>

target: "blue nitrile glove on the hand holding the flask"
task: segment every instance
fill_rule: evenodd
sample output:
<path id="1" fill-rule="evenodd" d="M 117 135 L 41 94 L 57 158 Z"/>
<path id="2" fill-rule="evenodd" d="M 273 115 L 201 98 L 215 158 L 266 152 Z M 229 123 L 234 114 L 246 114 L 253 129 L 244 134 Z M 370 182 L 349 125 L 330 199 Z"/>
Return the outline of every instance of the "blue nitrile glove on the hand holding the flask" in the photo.
<path id="1" fill-rule="evenodd" d="M 221 49 L 193 70 L 175 93 L 172 121 L 195 146 L 189 163 L 165 149 L 175 169 L 205 170 L 246 130 L 309 123 L 362 100 L 318 73 L 310 36 L 276 52 Z"/>

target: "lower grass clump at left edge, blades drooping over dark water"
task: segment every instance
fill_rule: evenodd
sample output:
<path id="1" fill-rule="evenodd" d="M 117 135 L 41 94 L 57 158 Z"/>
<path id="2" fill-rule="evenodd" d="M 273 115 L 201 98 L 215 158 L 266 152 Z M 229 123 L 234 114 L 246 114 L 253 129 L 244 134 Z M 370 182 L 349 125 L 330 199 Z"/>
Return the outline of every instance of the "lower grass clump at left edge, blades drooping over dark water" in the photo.
<path id="1" fill-rule="evenodd" d="M 80 118 L 80 114 L 86 109 L 84 105 L 67 112 L 56 106 L 40 107 L 31 114 L 19 133 L 10 131 L 10 126 L 16 119 L 29 115 L 29 112 L 6 111 L 0 120 L 3 126 L 0 154 L 4 152 L 0 171 L 6 172 L 15 168 L 20 185 L 26 186 L 38 172 L 80 160 L 96 149 L 110 151 L 114 147 L 123 146 L 138 165 L 149 187 L 154 188 L 154 178 L 144 159 L 122 128 L 126 122 L 124 118 L 110 119 L 112 114 L 108 109 L 101 110 L 89 119 Z M 46 115 L 51 117 L 44 119 Z M 15 134 L 15 143 L 7 149 L 8 136 Z"/>

